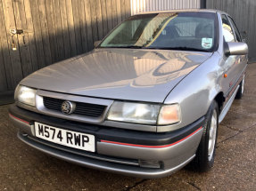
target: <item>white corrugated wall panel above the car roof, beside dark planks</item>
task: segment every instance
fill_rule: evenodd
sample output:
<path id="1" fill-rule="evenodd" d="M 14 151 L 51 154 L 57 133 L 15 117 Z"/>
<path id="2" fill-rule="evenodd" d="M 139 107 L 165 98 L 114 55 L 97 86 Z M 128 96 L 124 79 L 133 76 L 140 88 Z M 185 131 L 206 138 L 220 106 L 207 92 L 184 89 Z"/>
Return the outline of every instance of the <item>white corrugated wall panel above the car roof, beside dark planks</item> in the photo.
<path id="1" fill-rule="evenodd" d="M 130 0 L 131 15 L 139 12 L 200 8 L 200 0 Z"/>

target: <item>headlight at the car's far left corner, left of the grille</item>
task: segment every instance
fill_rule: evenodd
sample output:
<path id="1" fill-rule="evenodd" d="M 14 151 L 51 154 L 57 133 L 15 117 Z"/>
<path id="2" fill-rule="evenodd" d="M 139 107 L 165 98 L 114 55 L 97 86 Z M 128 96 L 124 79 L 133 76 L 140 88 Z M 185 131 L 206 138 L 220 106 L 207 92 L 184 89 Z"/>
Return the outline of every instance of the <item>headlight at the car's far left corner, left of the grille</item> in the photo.
<path id="1" fill-rule="evenodd" d="M 29 106 L 36 106 L 36 92 L 37 90 L 19 85 L 15 90 L 15 100 Z"/>

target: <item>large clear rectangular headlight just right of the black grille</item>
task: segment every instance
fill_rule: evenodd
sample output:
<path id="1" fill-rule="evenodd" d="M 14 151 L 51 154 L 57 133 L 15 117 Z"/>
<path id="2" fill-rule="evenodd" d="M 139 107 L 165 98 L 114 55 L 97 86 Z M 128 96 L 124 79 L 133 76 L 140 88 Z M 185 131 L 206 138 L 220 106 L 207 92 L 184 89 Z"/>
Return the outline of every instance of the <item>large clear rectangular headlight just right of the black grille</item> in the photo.
<path id="1" fill-rule="evenodd" d="M 156 104 L 114 102 L 107 118 L 111 121 L 156 124 L 159 109 Z"/>

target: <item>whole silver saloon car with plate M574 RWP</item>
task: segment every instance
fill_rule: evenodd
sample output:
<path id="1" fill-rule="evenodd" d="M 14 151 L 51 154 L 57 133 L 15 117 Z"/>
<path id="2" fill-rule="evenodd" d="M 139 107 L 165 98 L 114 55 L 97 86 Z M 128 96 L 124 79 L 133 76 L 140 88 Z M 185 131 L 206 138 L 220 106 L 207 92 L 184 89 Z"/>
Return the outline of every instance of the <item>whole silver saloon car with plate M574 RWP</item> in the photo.
<path id="1" fill-rule="evenodd" d="M 143 178 L 208 171 L 247 53 L 225 12 L 137 14 L 23 79 L 10 118 L 23 142 L 71 163 Z"/>

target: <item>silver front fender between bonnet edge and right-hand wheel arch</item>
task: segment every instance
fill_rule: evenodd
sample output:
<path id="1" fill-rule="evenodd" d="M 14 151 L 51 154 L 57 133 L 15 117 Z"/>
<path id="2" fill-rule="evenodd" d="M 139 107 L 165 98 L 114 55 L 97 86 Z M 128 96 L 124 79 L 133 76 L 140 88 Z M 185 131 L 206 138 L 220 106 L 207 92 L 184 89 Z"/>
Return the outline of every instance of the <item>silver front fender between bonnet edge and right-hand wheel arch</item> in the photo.
<path id="1" fill-rule="evenodd" d="M 218 52 L 187 75 L 171 92 L 164 104 L 178 103 L 181 107 L 181 122 L 158 126 L 157 131 L 172 131 L 193 123 L 206 115 L 211 102 L 222 92 L 223 69 Z"/>

